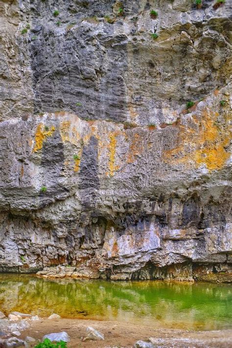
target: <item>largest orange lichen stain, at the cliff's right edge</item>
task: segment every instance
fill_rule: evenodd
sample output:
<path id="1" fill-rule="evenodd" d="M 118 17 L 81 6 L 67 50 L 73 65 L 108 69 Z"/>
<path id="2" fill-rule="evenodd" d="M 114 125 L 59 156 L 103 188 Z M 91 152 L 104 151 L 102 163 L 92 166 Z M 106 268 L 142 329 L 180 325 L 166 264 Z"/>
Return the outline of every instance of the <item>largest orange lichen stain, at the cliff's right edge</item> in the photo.
<path id="1" fill-rule="evenodd" d="M 179 125 L 179 146 L 164 152 L 164 161 L 172 163 L 195 163 L 197 167 L 205 164 L 209 171 L 219 170 L 229 159 L 230 154 L 225 147 L 231 139 L 230 130 L 225 117 L 225 123 L 217 125 L 217 112 L 205 109 L 201 118 L 192 119 L 197 124 L 193 130 Z"/>

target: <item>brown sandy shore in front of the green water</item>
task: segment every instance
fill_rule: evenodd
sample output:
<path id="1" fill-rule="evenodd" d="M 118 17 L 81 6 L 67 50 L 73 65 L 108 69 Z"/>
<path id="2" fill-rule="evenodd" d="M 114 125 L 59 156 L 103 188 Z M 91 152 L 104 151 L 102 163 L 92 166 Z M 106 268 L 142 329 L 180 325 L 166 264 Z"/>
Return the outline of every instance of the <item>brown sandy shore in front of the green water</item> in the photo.
<path id="1" fill-rule="evenodd" d="M 87 326 L 93 326 L 105 336 L 104 341 L 82 341 Z M 138 340 L 155 338 L 154 346 L 159 347 L 232 347 L 232 330 L 186 331 L 177 329 L 157 329 L 114 321 L 93 321 L 76 319 L 43 319 L 32 322 L 30 328 L 22 332 L 20 338 L 32 336 L 41 340 L 45 334 L 66 331 L 70 335 L 69 348 L 80 347 L 133 347 Z"/>

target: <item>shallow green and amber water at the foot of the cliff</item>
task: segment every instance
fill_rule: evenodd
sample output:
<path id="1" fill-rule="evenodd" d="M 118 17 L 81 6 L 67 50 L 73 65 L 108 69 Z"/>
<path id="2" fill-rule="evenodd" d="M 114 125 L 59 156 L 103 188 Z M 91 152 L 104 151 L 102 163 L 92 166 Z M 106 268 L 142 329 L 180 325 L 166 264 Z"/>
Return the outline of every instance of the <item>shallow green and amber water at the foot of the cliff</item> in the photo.
<path id="1" fill-rule="evenodd" d="M 232 286 L 162 281 L 48 280 L 0 275 L 0 310 L 155 327 L 232 328 Z"/>

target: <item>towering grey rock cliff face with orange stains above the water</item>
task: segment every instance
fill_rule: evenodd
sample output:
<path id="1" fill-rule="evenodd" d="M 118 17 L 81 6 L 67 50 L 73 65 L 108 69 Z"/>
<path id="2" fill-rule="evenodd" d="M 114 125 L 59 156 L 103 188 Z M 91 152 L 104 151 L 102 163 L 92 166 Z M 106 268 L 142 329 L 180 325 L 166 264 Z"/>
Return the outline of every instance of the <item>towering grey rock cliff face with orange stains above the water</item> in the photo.
<path id="1" fill-rule="evenodd" d="M 213 5 L 0 2 L 0 271 L 232 280 L 231 9 Z"/>

